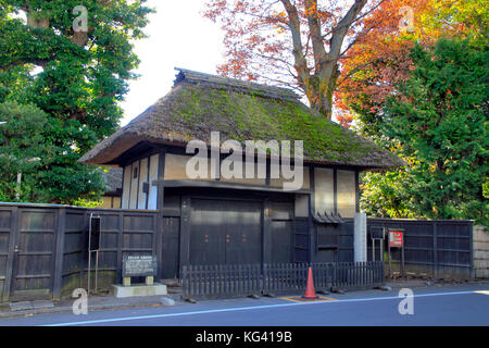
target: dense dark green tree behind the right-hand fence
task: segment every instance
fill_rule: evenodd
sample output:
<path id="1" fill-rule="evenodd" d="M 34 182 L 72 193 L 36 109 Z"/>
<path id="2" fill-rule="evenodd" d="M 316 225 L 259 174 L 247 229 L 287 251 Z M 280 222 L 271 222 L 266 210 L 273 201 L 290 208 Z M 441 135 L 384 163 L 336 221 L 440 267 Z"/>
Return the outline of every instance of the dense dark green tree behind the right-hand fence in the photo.
<path id="1" fill-rule="evenodd" d="M 416 46 L 411 59 L 409 79 L 386 99 L 379 132 L 413 161 L 406 171 L 364 179 L 369 186 L 366 209 L 375 207 L 378 197 L 408 197 L 403 204 L 417 216 L 474 219 L 487 225 L 487 49 L 468 40 L 441 39 L 432 48 Z M 373 186 L 380 190 L 377 198 Z"/>

